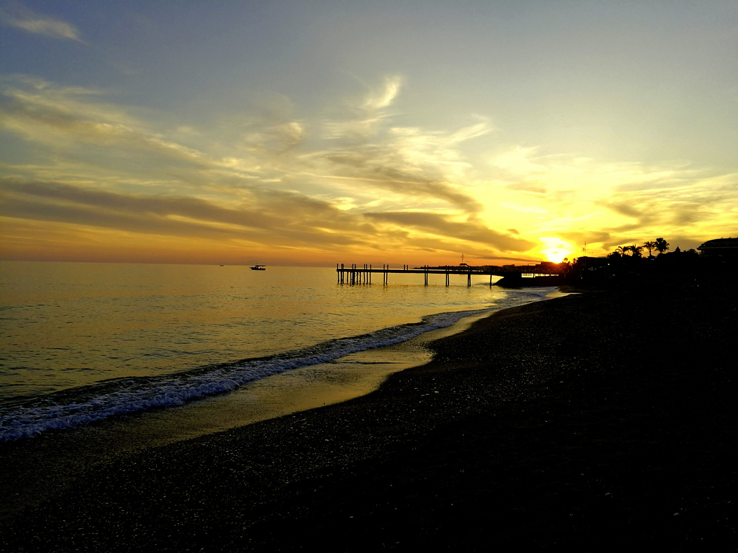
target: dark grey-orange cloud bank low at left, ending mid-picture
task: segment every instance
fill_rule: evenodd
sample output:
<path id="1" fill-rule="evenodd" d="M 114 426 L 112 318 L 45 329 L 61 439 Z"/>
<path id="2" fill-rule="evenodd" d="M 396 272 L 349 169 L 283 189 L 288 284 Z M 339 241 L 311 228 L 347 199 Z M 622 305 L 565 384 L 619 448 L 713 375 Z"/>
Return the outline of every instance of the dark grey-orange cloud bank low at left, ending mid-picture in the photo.
<path id="1" fill-rule="evenodd" d="M 0 215 L 141 234 L 256 240 L 264 246 L 346 245 L 351 218 L 326 202 L 252 190 L 241 205 L 202 198 L 123 194 L 54 182 L 1 181 Z M 356 235 L 359 235 L 357 232 Z"/>

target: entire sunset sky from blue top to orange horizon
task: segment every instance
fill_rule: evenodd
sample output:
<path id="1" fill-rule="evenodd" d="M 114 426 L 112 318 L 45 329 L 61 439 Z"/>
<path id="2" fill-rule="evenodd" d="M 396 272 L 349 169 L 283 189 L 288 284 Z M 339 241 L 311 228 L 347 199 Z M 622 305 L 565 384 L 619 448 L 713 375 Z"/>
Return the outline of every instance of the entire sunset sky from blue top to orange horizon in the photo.
<path id="1" fill-rule="evenodd" d="M 738 3 L 0 1 L 0 257 L 525 264 L 738 236 Z"/>

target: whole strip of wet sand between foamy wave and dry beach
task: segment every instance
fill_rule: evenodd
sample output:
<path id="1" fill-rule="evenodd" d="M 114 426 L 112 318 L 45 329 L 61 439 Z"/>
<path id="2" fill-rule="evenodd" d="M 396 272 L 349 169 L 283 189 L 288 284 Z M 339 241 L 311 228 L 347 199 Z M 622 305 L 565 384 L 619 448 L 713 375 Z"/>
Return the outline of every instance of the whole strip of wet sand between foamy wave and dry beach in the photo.
<path id="1" fill-rule="evenodd" d="M 548 295 L 551 294 L 556 292 Z M 473 322 L 506 309 L 475 313 L 449 327 L 429 330 L 399 344 L 290 369 L 182 406 L 119 414 L 72 428 L 45 431 L 32 438 L 0 442 L 0 462 L 7 467 L 6 477 L 10 481 L 0 493 L 0 521 L 13 521 L 20 509 L 57 495 L 97 465 L 369 394 L 390 375 L 429 362 L 432 354 L 426 346 L 430 341 L 461 333 Z M 59 466 L 63 470 L 58 470 Z"/>

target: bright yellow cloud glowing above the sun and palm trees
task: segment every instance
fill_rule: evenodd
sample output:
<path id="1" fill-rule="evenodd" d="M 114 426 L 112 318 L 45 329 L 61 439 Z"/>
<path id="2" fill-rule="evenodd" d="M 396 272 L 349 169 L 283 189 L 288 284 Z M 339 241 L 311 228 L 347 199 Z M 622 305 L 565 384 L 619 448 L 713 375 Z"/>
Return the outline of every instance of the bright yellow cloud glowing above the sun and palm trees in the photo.
<path id="1" fill-rule="evenodd" d="M 498 206 L 529 213 L 525 234 L 557 235 L 587 251 L 658 236 L 692 235 L 692 243 L 734 228 L 738 175 L 685 164 L 601 162 L 511 147 L 492 159 Z M 537 215 L 539 214 L 539 215 Z M 601 248 L 601 249 L 599 249 Z"/>

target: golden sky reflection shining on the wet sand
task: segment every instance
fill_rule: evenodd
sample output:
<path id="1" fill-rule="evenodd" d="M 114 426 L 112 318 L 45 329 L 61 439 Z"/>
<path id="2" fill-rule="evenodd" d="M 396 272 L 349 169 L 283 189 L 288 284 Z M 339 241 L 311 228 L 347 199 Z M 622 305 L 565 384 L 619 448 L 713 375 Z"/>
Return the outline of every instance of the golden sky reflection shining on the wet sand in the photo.
<path id="1" fill-rule="evenodd" d="M 152 447 L 350 400 L 373 392 L 394 372 L 427 363 L 432 354 L 425 344 L 466 330 L 488 315 L 465 317 L 450 327 L 431 330 L 401 344 L 292 369 L 234 392 L 126 420 L 106 421 L 100 426 L 107 427 L 106 434 L 115 435 L 119 448 Z"/>

